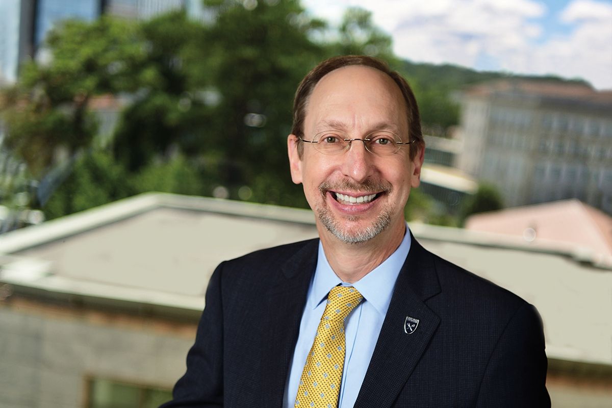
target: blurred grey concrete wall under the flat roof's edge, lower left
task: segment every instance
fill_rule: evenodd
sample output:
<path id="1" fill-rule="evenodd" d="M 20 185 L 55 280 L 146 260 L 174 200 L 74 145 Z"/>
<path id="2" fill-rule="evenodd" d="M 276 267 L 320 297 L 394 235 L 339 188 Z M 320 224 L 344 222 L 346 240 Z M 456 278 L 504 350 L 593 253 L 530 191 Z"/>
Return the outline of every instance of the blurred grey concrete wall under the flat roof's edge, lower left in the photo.
<path id="1" fill-rule="evenodd" d="M 195 324 L 0 302 L 0 407 L 81 408 L 87 380 L 171 389 Z"/>

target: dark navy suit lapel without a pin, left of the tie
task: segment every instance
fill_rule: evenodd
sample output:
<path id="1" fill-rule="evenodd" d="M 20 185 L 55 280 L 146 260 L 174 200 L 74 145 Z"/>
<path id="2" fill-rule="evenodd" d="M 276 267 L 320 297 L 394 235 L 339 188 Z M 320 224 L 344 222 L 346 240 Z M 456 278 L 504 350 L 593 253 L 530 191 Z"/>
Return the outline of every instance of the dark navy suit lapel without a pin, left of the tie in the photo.
<path id="1" fill-rule="evenodd" d="M 318 240 L 308 242 L 289 259 L 280 273 L 277 284 L 267 292 L 268 330 L 262 344 L 263 407 L 281 407 L 289 362 L 297 343 L 308 286 L 315 272 Z"/>

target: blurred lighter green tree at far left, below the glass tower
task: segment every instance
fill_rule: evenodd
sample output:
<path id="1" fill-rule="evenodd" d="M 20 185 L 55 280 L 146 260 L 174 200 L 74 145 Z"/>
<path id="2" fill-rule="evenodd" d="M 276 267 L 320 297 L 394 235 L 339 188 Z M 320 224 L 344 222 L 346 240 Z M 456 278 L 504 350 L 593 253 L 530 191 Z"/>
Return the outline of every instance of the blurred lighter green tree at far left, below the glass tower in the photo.
<path id="1" fill-rule="evenodd" d="M 9 128 L 4 143 L 41 177 L 61 148 L 88 147 L 97 124 L 88 112 L 95 94 L 129 90 L 144 57 L 135 25 L 101 18 L 67 21 L 50 32 L 50 62 L 24 65 L 18 84 L 3 92 L 0 109 Z"/>

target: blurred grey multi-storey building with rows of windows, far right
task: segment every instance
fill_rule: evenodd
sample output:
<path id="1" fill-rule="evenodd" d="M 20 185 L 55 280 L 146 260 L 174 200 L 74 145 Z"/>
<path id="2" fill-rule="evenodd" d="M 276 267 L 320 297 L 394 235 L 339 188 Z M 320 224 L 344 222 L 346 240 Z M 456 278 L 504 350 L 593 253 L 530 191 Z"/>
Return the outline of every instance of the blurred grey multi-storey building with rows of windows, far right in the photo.
<path id="1" fill-rule="evenodd" d="M 507 207 L 578 198 L 612 214 L 612 91 L 498 80 L 466 89 L 458 167 Z"/>

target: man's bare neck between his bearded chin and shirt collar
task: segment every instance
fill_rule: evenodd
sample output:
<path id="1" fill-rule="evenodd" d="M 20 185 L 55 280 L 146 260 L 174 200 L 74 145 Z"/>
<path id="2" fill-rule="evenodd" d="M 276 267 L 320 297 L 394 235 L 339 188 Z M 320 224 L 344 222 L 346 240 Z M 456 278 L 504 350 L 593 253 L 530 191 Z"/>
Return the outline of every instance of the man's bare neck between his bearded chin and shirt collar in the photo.
<path id="1" fill-rule="evenodd" d="M 406 224 L 402 222 L 389 226 L 369 241 L 346 243 L 325 227 L 317 226 L 327 262 L 338 278 L 346 283 L 355 283 L 382 264 L 397 250 L 406 233 Z"/>

